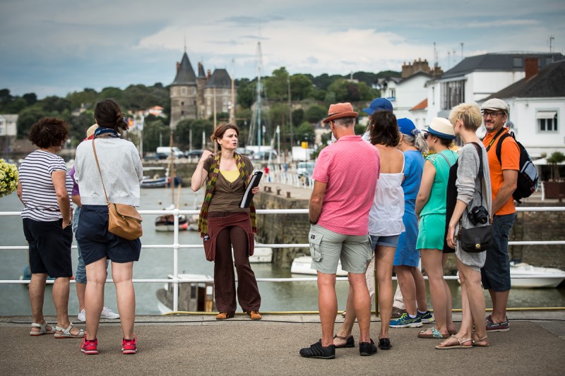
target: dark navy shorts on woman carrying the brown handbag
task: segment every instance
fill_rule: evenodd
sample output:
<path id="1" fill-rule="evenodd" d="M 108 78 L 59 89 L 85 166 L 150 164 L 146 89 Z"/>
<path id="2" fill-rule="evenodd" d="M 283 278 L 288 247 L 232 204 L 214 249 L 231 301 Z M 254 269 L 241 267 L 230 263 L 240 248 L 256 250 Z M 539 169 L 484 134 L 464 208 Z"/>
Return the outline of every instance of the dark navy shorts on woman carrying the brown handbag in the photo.
<path id="1" fill-rule="evenodd" d="M 85 265 L 106 257 L 112 262 L 138 261 L 141 241 L 129 241 L 108 231 L 108 207 L 83 205 L 78 216 L 76 243 L 81 247 Z"/>

